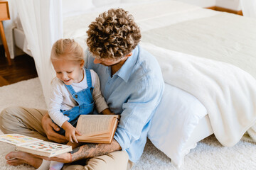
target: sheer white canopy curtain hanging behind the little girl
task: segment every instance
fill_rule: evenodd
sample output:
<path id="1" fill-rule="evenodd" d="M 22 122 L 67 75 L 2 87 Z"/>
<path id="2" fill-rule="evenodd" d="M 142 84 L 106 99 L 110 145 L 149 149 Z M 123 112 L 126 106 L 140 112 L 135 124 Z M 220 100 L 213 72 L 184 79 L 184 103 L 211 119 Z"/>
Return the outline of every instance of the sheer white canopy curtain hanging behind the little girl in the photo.
<path id="1" fill-rule="evenodd" d="M 16 0 L 16 6 L 48 106 L 50 81 L 55 75 L 50 50 L 53 43 L 63 37 L 62 2 Z"/>

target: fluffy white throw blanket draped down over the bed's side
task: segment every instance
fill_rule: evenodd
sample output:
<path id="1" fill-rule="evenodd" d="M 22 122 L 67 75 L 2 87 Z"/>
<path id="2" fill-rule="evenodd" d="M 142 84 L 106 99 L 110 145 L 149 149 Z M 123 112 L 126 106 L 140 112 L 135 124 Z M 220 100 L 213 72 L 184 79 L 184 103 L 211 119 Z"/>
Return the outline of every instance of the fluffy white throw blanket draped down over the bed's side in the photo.
<path id="1" fill-rule="evenodd" d="M 222 145 L 235 145 L 255 124 L 256 79 L 250 74 L 225 62 L 148 43 L 142 46 L 156 56 L 166 83 L 188 91 L 203 103 L 213 132 Z"/>

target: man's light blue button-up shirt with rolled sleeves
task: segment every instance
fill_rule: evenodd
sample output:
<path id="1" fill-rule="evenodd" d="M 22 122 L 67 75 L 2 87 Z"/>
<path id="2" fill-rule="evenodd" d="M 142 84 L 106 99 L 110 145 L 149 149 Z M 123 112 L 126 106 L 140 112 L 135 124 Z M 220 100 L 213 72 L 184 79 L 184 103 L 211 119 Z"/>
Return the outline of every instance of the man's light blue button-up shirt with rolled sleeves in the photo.
<path id="1" fill-rule="evenodd" d="M 151 118 L 164 91 L 164 80 L 158 62 L 139 45 L 113 76 L 111 68 L 94 64 L 86 52 L 85 67 L 100 78 L 102 95 L 112 113 L 121 115 L 114 139 L 129 154 L 132 162 L 142 156 Z"/>

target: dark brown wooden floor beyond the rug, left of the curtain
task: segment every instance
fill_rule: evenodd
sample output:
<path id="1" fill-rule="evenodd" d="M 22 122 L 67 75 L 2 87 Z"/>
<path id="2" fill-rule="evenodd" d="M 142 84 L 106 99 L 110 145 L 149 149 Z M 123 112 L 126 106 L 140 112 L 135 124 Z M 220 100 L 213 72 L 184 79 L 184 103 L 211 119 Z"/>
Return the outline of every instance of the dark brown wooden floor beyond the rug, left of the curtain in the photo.
<path id="1" fill-rule="evenodd" d="M 0 86 L 38 77 L 33 57 L 20 55 L 11 62 L 12 65 L 9 66 L 4 56 L 4 46 L 0 45 Z"/>

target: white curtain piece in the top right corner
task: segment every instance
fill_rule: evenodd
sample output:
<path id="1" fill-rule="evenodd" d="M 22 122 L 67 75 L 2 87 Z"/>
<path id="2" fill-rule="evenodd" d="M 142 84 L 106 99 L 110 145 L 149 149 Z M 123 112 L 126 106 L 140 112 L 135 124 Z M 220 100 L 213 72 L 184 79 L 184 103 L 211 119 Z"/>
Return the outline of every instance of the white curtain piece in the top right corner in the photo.
<path id="1" fill-rule="evenodd" d="M 240 0 L 243 16 L 256 18 L 256 0 Z"/>

